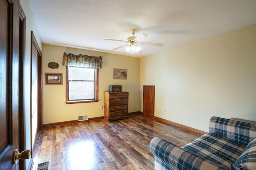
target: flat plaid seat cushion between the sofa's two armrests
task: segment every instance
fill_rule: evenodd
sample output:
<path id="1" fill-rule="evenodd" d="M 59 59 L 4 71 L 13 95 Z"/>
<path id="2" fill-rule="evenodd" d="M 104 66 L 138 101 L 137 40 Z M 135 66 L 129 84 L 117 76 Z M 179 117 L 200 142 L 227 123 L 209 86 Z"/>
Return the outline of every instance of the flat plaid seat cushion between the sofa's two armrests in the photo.
<path id="1" fill-rule="evenodd" d="M 189 152 L 226 169 L 231 168 L 231 163 L 238 159 L 245 147 L 245 144 L 216 133 L 204 134 L 193 142 L 182 146 Z"/>

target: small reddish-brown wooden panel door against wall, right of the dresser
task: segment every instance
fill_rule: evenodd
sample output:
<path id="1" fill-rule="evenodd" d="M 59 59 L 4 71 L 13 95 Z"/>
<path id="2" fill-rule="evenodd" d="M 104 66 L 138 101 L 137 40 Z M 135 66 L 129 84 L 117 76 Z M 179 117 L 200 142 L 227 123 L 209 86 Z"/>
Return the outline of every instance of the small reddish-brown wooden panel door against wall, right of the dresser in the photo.
<path id="1" fill-rule="evenodd" d="M 154 117 L 155 108 L 155 86 L 143 86 L 143 115 Z"/>

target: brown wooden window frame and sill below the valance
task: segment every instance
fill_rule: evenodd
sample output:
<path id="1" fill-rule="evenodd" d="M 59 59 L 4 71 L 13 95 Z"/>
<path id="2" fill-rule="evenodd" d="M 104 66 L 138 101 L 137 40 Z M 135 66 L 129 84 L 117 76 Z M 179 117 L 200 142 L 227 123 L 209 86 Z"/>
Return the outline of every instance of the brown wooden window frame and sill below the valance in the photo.
<path id="1" fill-rule="evenodd" d="M 66 66 L 66 104 L 73 104 L 73 103 L 91 103 L 91 102 L 98 102 L 98 73 L 99 69 L 94 69 L 94 80 L 95 80 L 95 86 L 94 86 L 94 96 L 95 99 L 90 100 L 69 100 L 69 80 L 68 80 L 68 73 L 70 66 Z"/>

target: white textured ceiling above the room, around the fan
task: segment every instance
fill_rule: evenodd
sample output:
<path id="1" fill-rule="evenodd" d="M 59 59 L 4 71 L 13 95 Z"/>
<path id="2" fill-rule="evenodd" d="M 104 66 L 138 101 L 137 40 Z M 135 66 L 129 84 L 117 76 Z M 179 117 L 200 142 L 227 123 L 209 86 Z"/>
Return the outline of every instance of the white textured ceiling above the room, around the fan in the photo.
<path id="1" fill-rule="evenodd" d="M 256 0 L 29 0 L 42 43 L 143 57 L 256 23 Z M 124 42 L 148 34 L 142 53 Z"/>

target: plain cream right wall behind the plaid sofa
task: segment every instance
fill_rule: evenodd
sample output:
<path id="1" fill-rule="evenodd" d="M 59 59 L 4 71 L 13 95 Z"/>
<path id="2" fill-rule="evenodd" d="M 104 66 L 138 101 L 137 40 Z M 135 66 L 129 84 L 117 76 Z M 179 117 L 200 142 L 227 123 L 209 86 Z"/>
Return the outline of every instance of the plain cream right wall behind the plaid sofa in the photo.
<path id="1" fill-rule="evenodd" d="M 206 132 L 212 116 L 256 121 L 256 24 L 141 58 L 143 85 L 162 119 Z"/>

